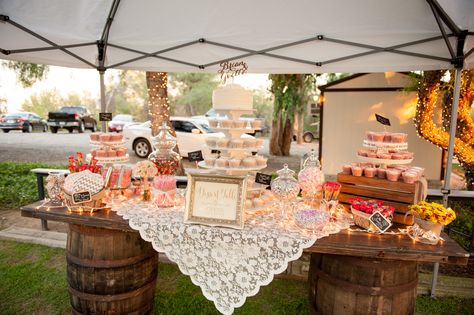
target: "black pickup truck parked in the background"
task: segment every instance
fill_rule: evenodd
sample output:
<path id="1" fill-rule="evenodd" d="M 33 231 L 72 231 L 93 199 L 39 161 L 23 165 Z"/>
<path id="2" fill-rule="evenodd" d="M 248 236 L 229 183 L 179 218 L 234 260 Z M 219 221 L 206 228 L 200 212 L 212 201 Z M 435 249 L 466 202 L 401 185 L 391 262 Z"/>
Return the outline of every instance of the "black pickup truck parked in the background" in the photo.
<path id="1" fill-rule="evenodd" d="M 64 128 L 70 133 L 77 129 L 83 133 L 86 129 L 97 131 L 97 121 L 89 110 L 82 106 L 63 106 L 57 112 L 48 113 L 48 126 L 52 133 Z"/>

